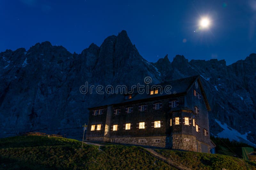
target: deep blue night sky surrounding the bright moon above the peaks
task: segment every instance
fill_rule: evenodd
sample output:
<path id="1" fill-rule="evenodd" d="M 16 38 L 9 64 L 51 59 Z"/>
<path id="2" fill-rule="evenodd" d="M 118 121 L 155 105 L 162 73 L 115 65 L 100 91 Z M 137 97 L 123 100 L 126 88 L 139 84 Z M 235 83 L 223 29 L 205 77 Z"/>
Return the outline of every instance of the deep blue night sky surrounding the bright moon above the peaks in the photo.
<path id="1" fill-rule="evenodd" d="M 204 16 L 211 25 L 200 30 Z M 0 51 L 50 41 L 81 53 L 126 30 L 150 62 L 182 54 L 188 60 L 225 59 L 229 65 L 256 53 L 256 0 L 3 0 L 0 23 Z"/>

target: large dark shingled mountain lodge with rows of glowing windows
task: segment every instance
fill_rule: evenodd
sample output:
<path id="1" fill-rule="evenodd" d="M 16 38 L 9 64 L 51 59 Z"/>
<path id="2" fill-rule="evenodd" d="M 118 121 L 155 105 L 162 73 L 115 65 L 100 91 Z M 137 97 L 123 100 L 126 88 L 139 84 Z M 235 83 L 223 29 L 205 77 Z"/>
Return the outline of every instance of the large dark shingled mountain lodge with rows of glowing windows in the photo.
<path id="1" fill-rule="evenodd" d="M 86 140 L 210 152 L 210 106 L 200 76 L 158 85 L 175 92 L 133 93 L 130 99 L 117 94 L 89 108 Z"/>

